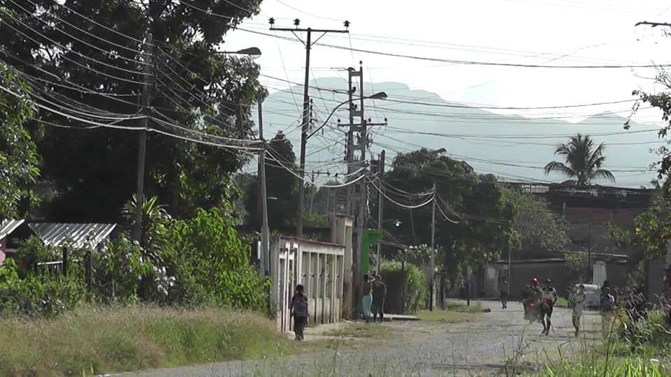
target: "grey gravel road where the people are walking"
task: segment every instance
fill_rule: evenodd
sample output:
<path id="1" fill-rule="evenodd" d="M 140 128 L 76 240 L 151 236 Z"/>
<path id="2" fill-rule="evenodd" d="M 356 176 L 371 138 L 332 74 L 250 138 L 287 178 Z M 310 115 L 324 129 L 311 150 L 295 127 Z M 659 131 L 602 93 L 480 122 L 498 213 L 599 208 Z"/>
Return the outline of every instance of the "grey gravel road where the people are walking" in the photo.
<path id="1" fill-rule="evenodd" d="M 573 336 L 571 312 L 557 308 L 553 331 L 540 334 L 540 323 L 529 325 L 522 318 L 521 304 L 500 309 L 484 302 L 491 313 L 473 315 L 468 323 L 394 323 L 394 331 L 408 331 L 396 345 L 368 350 L 340 349 L 310 357 L 278 360 L 223 362 L 178 369 L 143 371 L 135 376 L 491 376 L 500 374 L 506 360 L 518 356 L 522 364 L 537 364 L 584 349 L 598 337 L 600 316 L 585 311 L 584 334 Z M 422 332 L 424 337 L 410 337 Z M 405 340 L 407 339 L 407 341 Z"/>

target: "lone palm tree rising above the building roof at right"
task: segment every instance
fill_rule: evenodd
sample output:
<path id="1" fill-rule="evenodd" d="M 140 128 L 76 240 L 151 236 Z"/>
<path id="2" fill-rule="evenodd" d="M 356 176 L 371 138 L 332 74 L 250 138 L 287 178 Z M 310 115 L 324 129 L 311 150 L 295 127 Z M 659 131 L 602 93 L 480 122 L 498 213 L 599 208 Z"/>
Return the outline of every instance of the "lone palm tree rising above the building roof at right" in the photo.
<path id="1" fill-rule="evenodd" d="M 606 145 L 603 142 L 596 146 L 589 135 L 577 134 L 571 137 L 568 144 L 561 144 L 554 154 L 564 157 L 565 163 L 552 161 L 545 165 L 545 174 L 560 172 L 568 176 L 575 184 L 586 186 L 592 179 L 604 178 L 615 182 L 612 172 L 602 169 L 605 161 L 603 152 Z"/>

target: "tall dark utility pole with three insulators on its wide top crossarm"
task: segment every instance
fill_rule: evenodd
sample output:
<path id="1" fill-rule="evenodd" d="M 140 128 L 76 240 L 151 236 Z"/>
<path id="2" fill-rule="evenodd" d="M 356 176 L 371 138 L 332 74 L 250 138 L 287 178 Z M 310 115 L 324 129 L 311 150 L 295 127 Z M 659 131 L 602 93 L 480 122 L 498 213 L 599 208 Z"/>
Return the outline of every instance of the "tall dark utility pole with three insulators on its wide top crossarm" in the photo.
<path id="1" fill-rule="evenodd" d="M 291 31 L 298 40 L 303 42 L 305 45 L 305 82 L 303 84 L 303 123 L 301 124 L 301 165 L 298 171 L 298 174 L 301 176 L 301 186 L 298 186 L 298 209 L 296 211 L 296 237 L 303 237 L 303 205 L 305 202 L 305 147 L 308 144 L 308 127 L 310 126 L 310 101 L 308 98 L 308 85 L 310 84 L 310 50 L 312 50 L 312 45 L 317 43 L 319 39 L 325 36 L 327 33 L 349 33 L 349 21 L 345 21 L 345 30 L 331 30 L 331 29 L 312 29 L 308 27 L 307 29 L 300 29 L 298 26 L 301 24 L 301 20 L 294 20 L 294 28 L 275 28 L 275 19 L 270 18 L 268 20 L 270 23 L 270 30 L 273 31 Z M 297 32 L 305 31 L 307 36 L 305 41 L 303 41 Z M 322 35 L 319 38 L 312 41 L 312 32 L 321 33 Z"/>

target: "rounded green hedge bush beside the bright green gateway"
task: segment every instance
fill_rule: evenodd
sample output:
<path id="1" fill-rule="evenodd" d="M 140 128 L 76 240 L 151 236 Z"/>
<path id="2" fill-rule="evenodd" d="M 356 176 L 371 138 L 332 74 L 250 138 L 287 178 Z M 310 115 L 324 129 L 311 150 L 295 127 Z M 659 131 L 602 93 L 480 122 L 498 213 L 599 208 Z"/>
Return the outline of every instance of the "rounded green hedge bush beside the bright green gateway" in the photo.
<path id="1" fill-rule="evenodd" d="M 426 307 L 428 284 L 421 269 L 412 263 L 383 262 L 380 266 L 382 281 L 387 285 L 385 310 L 391 313 L 415 313 Z M 401 302 L 401 291 L 405 282 L 405 302 Z"/>

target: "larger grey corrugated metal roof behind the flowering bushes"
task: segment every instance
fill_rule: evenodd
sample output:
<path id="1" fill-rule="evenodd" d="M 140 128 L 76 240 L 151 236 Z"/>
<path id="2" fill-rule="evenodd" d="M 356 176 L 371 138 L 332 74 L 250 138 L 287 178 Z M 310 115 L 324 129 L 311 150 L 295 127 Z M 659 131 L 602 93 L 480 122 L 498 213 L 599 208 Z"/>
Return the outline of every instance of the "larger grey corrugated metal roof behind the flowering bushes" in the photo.
<path id="1" fill-rule="evenodd" d="M 116 224 L 29 223 L 28 226 L 49 246 L 95 248 L 116 228 Z M 71 243 L 68 243 L 71 242 Z"/>

